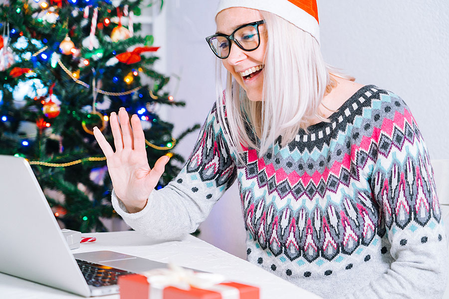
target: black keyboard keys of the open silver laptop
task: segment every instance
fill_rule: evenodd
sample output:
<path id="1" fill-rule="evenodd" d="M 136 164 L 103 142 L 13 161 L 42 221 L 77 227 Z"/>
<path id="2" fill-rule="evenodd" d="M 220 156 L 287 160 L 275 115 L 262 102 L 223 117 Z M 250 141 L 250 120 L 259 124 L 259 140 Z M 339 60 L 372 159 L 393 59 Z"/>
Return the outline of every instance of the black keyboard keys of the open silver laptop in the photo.
<path id="1" fill-rule="evenodd" d="M 132 272 L 115 269 L 108 266 L 89 263 L 86 261 L 76 260 L 81 273 L 88 285 L 94 287 L 105 287 L 117 284 L 117 279 L 121 275 L 134 274 Z"/>

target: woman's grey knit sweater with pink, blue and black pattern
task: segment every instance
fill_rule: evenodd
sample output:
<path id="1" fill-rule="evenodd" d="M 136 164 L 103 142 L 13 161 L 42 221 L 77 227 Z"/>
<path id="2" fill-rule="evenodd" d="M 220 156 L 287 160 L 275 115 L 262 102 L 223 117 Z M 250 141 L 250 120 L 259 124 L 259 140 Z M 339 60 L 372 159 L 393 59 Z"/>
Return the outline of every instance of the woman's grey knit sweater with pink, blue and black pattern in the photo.
<path id="1" fill-rule="evenodd" d="M 214 106 L 181 173 L 130 214 L 158 240 L 195 231 L 237 178 L 247 260 L 324 298 L 441 298 L 447 243 L 429 154 L 395 94 L 361 88 L 309 133 L 243 165 Z M 282 294 L 279 294 L 279 298 Z"/>

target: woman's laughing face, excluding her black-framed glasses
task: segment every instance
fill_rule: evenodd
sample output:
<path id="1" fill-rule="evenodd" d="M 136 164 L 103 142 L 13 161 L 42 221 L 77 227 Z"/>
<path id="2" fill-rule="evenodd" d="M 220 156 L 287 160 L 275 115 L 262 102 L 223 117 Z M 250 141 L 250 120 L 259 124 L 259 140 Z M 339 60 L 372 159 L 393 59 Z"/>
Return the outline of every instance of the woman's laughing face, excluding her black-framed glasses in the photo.
<path id="1" fill-rule="evenodd" d="M 237 27 L 260 21 L 261 19 L 262 16 L 255 9 L 244 7 L 227 8 L 217 14 L 217 33 L 229 35 Z M 257 49 L 249 52 L 244 51 L 232 41 L 229 56 L 226 59 L 222 59 L 226 70 L 232 74 L 238 84 L 246 91 L 250 101 L 262 100 L 263 57 L 266 50 L 265 24 L 259 25 L 259 33 L 260 45 Z"/>

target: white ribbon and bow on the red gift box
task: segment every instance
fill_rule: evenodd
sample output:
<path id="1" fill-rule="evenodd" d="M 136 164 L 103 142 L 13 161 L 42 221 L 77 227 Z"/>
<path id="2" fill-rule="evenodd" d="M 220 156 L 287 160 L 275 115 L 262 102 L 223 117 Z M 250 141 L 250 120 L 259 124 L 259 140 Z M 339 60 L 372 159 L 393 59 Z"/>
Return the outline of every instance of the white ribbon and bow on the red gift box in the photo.
<path id="1" fill-rule="evenodd" d="M 189 291 L 191 287 L 220 293 L 222 299 L 240 299 L 240 292 L 232 287 L 219 285 L 225 281 L 222 275 L 199 273 L 169 264 L 167 269 L 155 269 L 141 273 L 150 284 L 149 299 L 163 299 L 164 289 L 175 287 Z"/>

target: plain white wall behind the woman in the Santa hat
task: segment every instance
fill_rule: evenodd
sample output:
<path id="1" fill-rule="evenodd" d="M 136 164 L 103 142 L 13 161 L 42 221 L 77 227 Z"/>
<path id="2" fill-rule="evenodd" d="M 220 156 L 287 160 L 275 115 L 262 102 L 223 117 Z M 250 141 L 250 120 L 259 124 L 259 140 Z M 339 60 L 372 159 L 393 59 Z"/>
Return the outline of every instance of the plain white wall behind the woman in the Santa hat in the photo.
<path id="1" fill-rule="evenodd" d="M 169 74 L 180 76 L 175 96 L 187 103 L 186 108 L 171 112 L 176 136 L 194 123 L 203 124 L 214 102 L 215 56 L 204 37 L 215 32 L 218 0 L 166 3 L 167 69 Z M 375 84 L 400 95 L 420 126 L 431 158 L 448 158 L 448 0 L 318 0 L 318 10 L 326 61 L 360 83 Z M 187 157 L 197 135 L 187 137 L 177 151 Z M 201 238 L 245 257 L 235 185 L 200 228 Z"/>

